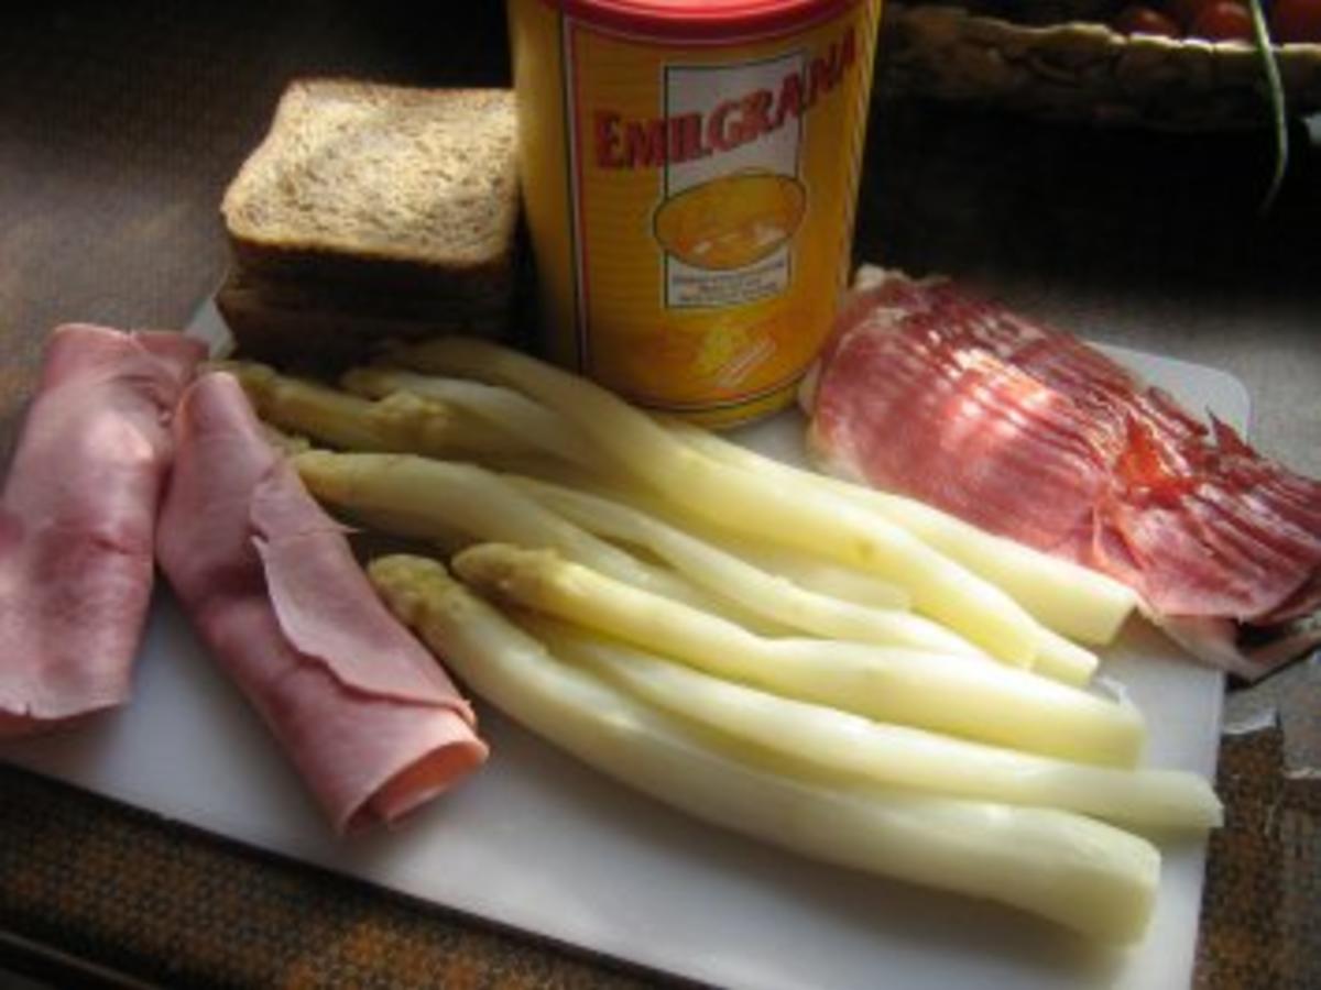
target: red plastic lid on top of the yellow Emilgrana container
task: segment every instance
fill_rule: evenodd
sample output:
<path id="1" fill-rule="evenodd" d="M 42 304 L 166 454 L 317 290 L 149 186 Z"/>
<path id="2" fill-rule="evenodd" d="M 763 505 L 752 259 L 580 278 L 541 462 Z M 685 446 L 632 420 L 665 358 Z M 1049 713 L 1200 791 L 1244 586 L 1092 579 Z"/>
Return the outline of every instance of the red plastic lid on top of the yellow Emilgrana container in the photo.
<path id="1" fill-rule="evenodd" d="M 711 44 L 773 37 L 828 20 L 857 0 L 544 0 L 587 24 Z"/>

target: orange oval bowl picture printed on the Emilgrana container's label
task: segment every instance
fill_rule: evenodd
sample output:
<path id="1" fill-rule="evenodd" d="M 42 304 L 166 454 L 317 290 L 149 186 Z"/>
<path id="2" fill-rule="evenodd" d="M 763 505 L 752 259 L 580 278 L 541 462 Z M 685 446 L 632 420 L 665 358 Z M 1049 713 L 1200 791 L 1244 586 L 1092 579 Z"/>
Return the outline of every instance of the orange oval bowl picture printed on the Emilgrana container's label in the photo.
<path id="1" fill-rule="evenodd" d="M 694 268 L 745 268 L 789 243 L 806 209 L 807 190 L 797 178 L 734 172 L 660 203 L 655 236 L 670 255 Z"/>

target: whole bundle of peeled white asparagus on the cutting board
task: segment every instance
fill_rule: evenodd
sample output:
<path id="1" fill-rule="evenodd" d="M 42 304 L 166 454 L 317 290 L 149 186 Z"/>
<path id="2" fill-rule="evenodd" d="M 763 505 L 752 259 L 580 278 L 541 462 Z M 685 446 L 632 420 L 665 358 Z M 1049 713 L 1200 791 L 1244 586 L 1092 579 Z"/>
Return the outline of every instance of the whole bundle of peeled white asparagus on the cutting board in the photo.
<path id="1" fill-rule="evenodd" d="M 469 688 L 579 759 L 826 861 L 1145 929 L 1197 775 L 1139 768 L 1090 686 L 1135 601 L 908 499 L 791 467 L 499 346 L 446 338 L 341 388 L 227 366 L 308 488 L 449 558 L 370 574 Z"/>

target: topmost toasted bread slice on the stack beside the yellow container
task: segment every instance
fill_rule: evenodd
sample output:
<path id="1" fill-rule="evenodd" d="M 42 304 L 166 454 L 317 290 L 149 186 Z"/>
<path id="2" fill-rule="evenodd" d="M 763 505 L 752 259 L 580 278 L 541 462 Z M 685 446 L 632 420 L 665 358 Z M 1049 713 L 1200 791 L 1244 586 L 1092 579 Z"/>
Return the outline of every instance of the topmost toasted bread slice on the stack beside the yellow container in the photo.
<path id="1" fill-rule="evenodd" d="M 514 145 L 507 90 L 296 81 L 225 193 L 235 260 L 271 280 L 507 293 Z"/>

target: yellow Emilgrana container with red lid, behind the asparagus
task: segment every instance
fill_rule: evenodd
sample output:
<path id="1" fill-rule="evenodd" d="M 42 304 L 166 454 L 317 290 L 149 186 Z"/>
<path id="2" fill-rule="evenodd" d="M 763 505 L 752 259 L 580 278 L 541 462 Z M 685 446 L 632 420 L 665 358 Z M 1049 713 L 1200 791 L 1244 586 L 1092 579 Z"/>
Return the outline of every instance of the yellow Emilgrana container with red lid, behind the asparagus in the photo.
<path id="1" fill-rule="evenodd" d="M 771 413 L 851 263 L 880 0 L 509 0 L 543 350 L 651 409 Z"/>

